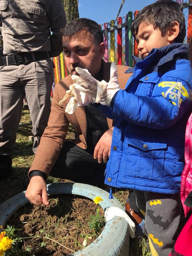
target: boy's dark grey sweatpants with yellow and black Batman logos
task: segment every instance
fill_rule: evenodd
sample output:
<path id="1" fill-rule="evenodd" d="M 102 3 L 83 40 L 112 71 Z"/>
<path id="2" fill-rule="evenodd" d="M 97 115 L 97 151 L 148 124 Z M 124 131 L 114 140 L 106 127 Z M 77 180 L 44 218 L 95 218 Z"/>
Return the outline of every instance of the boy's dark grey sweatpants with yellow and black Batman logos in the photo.
<path id="1" fill-rule="evenodd" d="M 177 239 L 181 215 L 180 194 L 134 190 L 136 204 L 145 215 L 145 227 L 152 256 L 167 256 Z"/>

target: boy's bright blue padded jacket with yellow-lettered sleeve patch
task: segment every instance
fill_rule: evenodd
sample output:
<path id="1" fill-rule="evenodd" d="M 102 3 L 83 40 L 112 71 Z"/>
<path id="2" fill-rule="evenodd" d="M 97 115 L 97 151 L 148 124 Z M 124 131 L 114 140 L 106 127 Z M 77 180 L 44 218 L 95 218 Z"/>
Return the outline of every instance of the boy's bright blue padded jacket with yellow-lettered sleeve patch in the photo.
<path id="1" fill-rule="evenodd" d="M 126 89 L 114 96 L 111 108 L 98 106 L 115 119 L 107 185 L 179 192 L 192 90 L 188 53 L 189 45 L 182 43 L 151 50 L 135 64 Z"/>

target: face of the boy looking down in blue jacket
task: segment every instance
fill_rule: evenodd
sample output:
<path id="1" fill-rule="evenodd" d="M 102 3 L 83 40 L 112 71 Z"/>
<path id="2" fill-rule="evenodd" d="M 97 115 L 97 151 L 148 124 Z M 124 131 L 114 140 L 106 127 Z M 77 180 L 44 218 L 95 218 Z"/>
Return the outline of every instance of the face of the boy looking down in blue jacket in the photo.
<path id="1" fill-rule="evenodd" d="M 160 48 L 169 45 L 169 30 L 163 35 L 159 29 L 154 29 L 153 25 L 143 22 L 139 25 L 138 33 L 135 35 L 138 43 L 137 49 L 141 52 L 141 58 L 144 59 L 153 48 Z"/>

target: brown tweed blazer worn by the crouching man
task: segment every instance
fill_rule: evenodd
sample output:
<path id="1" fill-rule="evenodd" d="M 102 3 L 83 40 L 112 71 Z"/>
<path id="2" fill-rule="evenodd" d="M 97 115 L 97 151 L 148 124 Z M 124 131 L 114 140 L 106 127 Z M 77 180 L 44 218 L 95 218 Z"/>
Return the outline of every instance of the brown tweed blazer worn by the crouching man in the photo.
<path id="1" fill-rule="evenodd" d="M 117 66 L 118 81 L 122 89 L 125 88 L 127 80 L 132 75 L 132 73 L 124 73 L 127 69 L 127 66 Z M 103 61 L 103 80 L 109 82 L 109 79 L 110 63 Z M 72 83 L 73 80 L 71 79 L 71 75 L 69 75 L 55 86 L 48 125 L 41 137 L 41 142 L 29 172 L 39 170 L 47 175 L 49 174 L 63 147 L 69 123 L 73 125 L 75 132 L 78 135 L 78 138 L 71 140 L 71 142 L 83 149 L 86 149 L 87 147 L 87 118 L 85 107 L 78 107 L 75 113 L 70 115 L 65 113 L 69 98 L 63 102 L 62 106 L 59 105 L 59 101 L 64 97 L 66 90 L 69 90 L 69 86 Z M 107 118 L 109 129 L 112 127 L 112 122 L 113 120 Z"/>

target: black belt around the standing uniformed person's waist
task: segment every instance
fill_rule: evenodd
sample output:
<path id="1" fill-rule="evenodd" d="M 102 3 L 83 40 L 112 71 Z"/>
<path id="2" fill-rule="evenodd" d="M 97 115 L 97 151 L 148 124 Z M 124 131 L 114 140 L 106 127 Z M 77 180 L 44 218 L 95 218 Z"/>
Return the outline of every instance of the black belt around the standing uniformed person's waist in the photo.
<path id="1" fill-rule="evenodd" d="M 34 53 L 20 53 L 13 54 L 9 56 L 1 55 L 0 66 L 11 66 L 11 65 L 21 65 L 30 63 L 33 61 L 40 61 L 43 59 L 49 59 L 50 52 L 48 51 L 36 51 Z"/>

